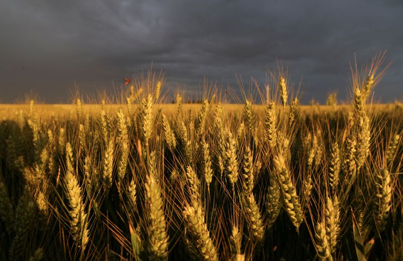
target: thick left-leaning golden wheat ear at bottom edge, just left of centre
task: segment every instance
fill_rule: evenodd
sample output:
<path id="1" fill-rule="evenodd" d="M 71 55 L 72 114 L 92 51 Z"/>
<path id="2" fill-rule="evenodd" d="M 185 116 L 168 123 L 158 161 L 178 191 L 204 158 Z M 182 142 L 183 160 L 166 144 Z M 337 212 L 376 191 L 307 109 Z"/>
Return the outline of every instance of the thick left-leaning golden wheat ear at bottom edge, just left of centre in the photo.
<path id="1" fill-rule="evenodd" d="M 200 260 L 218 260 L 216 246 L 210 238 L 207 229 L 203 210 L 199 204 L 186 206 L 183 210 L 185 226 L 190 235 L 190 240 L 194 242 L 196 252 Z"/>

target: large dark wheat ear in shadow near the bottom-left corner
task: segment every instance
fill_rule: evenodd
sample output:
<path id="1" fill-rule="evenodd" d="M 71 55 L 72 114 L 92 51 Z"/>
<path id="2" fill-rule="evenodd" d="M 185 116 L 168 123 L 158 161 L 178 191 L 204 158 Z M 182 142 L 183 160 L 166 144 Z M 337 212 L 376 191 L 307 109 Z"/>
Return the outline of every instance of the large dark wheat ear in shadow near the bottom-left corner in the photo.
<path id="1" fill-rule="evenodd" d="M 26 246 L 32 225 L 35 222 L 36 206 L 27 187 L 24 188 L 14 218 L 14 239 L 10 246 L 10 260 L 22 259 L 23 249 Z M 13 220 L 13 219 L 12 219 Z"/>

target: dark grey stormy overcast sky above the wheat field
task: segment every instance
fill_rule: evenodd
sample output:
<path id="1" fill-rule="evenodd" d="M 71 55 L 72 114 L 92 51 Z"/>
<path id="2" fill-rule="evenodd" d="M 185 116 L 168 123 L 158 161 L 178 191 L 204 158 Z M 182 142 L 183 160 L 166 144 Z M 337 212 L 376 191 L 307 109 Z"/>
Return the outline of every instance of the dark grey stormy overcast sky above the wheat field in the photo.
<path id="1" fill-rule="evenodd" d="M 0 0 L 0 102 L 37 94 L 46 103 L 112 90 L 122 78 L 163 69 L 166 87 L 198 93 L 204 76 L 237 89 L 265 80 L 277 60 L 302 77 L 303 102 L 345 99 L 349 62 L 387 49 L 375 95 L 403 98 L 401 1 Z"/>

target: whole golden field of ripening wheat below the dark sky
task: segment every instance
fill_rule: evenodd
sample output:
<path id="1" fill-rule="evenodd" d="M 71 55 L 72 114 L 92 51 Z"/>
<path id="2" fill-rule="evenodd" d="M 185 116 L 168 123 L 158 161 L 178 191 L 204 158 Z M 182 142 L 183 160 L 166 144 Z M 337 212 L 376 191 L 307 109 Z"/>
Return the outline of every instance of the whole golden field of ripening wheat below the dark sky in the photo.
<path id="1" fill-rule="evenodd" d="M 259 105 L 161 104 L 153 77 L 126 104 L 0 105 L 0 259 L 401 260 L 403 109 L 365 75 L 343 106 L 282 75 Z"/>

